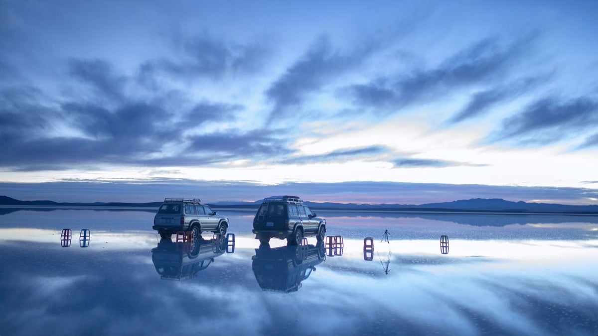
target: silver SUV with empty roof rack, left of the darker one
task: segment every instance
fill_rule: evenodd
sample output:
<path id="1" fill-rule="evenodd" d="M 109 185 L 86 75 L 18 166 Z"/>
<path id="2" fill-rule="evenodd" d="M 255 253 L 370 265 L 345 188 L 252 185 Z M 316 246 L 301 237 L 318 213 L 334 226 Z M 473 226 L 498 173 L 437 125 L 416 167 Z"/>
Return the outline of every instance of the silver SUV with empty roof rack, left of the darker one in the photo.
<path id="1" fill-rule="evenodd" d="M 164 203 L 154 216 L 154 230 L 162 238 L 170 239 L 177 231 L 192 231 L 199 237 L 203 231 L 225 234 L 228 218 L 217 216 L 206 204 L 197 198 L 164 198 Z"/>

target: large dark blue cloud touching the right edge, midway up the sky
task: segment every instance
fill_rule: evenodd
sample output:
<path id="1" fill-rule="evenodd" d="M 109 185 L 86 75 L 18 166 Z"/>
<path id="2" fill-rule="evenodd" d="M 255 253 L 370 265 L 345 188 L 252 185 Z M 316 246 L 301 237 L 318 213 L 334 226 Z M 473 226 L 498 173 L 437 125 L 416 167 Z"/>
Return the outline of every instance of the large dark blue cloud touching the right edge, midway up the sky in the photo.
<path id="1" fill-rule="evenodd" d="M 567 138 L 578 130 L 598 125 L 598 102 L 588 97 L 561 102 L 545 98 L 505 119 L 497 140 L 546 144 Z"/>

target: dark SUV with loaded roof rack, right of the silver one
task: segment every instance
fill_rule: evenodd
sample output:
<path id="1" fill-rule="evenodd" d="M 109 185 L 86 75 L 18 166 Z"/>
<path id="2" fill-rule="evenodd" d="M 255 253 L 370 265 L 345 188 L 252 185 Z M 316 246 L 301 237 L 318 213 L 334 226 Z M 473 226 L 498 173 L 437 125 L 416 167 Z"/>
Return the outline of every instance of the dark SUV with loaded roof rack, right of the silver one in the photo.
<path id="1" fill-rule="evenodd" d="M 326 219 L 319 218 L 297 196 L 272 196 L 264 198 L 255 214 L 255 239 L 267 244 L 270 238 L 286 239 L 289 245 L 299 245 L 305 236 L 324 240 Z"/>

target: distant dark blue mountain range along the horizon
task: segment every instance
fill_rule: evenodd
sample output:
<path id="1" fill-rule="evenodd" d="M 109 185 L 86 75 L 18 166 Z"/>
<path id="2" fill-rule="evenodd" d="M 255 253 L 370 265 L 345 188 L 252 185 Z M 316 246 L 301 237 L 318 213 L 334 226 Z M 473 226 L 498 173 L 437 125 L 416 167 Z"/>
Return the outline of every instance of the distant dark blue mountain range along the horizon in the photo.
<path id="1" fill-rule="evenodd" d="M 222 201 L 208 203 L 216 208 L 257 209 L 262 200 L 254 202 Z M 10 206 L 100 206 L 100 207 L 158 207 L 162 202 L 123 203 L 58 203 L 55 201 L 21 201 L 7 196 L 0 196 L 0 205 Z M 507 201 L 502 198 L 471 198 L 443 203 L 428 204 L 357 204 L 357 203 L 317 203 L 306 201 L 305 204 L 316 210 L 398 210 L 417 212 L 515 212 L 515 213 L 579 213 L 598 215 L 598 205 L 566 205 L 551 203 L 526 203 Z"/>

